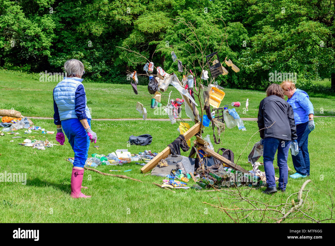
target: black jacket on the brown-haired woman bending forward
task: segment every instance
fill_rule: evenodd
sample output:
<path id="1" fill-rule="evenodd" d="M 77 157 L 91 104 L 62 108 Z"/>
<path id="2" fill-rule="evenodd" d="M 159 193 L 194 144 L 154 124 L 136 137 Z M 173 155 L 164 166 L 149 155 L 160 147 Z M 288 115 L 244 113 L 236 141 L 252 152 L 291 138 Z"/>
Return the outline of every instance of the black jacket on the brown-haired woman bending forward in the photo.
<path id="1" fill-rule="evenodd" d="M 273 122 L 275 122 L 273 124 Z M 291 105 L 284 99 L 271 95 L 259 104 L 258 128 L 266 128 L 260 132 L 261 138 L 273 137 L 281 140 L 293 141 L 297 139 L 294 114 Z"/>

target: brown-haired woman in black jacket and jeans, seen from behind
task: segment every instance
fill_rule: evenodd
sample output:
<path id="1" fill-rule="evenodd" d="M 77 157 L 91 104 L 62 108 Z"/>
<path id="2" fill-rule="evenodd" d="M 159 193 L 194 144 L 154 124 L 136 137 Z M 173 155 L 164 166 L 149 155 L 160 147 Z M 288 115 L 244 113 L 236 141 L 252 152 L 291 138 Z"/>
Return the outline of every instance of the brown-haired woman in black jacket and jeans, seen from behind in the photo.
<path id="1" fill-rule="evenodd" d="M 278 190 L 285 192 L 288 176 L 288 150 L 291 141 L 296 141 L 297 136 L 293 109 L 284 100 L 283 89 L 280 85 L 269 85 L 266 95 L 267 97 L 259 104 L 257 123 L 260 130 L 261 144 L 264 145 L 263 161 L 267 188 L 263 193 L 271 194 L 277 192 L 273 167 L 276 151 L 278 150 Z"/>

